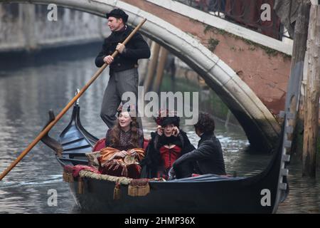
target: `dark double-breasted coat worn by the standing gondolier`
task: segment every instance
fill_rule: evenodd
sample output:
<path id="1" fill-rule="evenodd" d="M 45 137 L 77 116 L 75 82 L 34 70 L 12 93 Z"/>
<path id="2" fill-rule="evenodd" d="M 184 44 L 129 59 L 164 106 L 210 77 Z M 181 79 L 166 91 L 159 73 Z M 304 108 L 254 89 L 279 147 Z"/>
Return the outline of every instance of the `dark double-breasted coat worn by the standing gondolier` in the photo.
<path id="1" fill-rule="evenodd" d="M 120 31 L 113 31 L 110 36 L 105 38 L 102 45 L 102 50 L 95 58 L 95 65 L 101 67 L 105 62 L 103 58 L 105 56 L 111 56 L 114 53 L 118 43 L 123 43 L 124 39 L 132 32 L 130 26 L 124 26 Z M 139 58 L 149 58 L 150 48 L 148 43 L 144 41 L 144 38 L 140 33 L 135 33 L 130 41 L 125 45 L 125 51 L 119 53 L 114 61 L 110 64 L 110 74 L 112 72 L 125 71 L 131 68 L 138 67 Z"/>

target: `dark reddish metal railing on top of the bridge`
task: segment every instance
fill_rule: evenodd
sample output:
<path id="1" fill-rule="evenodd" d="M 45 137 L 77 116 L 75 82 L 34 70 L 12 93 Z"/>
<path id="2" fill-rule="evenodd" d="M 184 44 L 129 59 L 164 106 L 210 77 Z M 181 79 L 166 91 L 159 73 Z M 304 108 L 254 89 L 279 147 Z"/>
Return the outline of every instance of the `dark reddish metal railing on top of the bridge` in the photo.
<path id="1" fill-rule="evenodd" d="M 273 10 L 274 0 L 175 0 L 221 19 L 250 28 L 277 40 L 289 38 L 279 17 Z M 262 4 L 270 6 L 270 20 L 262 18 Z"/>

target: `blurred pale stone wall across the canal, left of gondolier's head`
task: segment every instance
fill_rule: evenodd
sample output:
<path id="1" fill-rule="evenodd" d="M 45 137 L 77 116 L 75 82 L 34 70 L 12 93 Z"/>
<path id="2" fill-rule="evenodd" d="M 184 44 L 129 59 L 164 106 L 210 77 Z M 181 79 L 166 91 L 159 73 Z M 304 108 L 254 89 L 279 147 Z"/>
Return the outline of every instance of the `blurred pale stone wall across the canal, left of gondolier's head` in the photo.
<path id="1" fill-rule="evenodd" d="M 0 4 L 0 52 L 34 50 L 102 40 L 103 19 L 58 7 L 49 21 L 48 5 Z"/>

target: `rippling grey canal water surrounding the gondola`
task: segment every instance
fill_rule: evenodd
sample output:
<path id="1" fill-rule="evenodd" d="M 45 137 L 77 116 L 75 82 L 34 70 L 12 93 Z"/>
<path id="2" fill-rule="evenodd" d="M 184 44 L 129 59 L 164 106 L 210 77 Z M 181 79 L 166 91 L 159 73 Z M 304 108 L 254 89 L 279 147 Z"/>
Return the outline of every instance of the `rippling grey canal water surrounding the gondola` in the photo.
<path id="1" fill-rule="evenodd" d="M 41 132 L 48 120 L 48 110 L 55 114 L 73 98 L 76 88 L 82 88 L 97 71 L 95 53 L 90 51 L 64 51 L 62 54 L 31 58 L 25 61 L 4 60 L 0 67 L 0 172 L 23 151 Z M 100 119 L 102 95 L 109 79 L 108 71 L 90 86 L 80 98 L 82 125 L 103 138 L 107 130 Z M 58 134 L 68 125 L 71 110 L 51 130 Z M 245 133 L 238 126 L 225 124 L 217 119 L 216 135 L 223 145 L 225 166 L 228 173 L 250 176 L 261 172 L 270 155 L 248 151 Z M 154 130 L 153 120 L 144 118 L 144 133 Z M 184 127 L 193 145 L 198 137 L 193 128 Z M 319 180 L 301 177 L 301 161 L 293 157 L 289 168 L 290 193 L 279 205 L 278 213 L 319 213 Z M 49 206 L 50 191 L 58 193 L 58 206 Z M 49 193 L 49 194 L 48 194 Z M 39 142 L 23 160 L 0 182 L 0 213 L 78 213 L 68 184 L 62 180 L 62 168 L 53 151 Z"/>

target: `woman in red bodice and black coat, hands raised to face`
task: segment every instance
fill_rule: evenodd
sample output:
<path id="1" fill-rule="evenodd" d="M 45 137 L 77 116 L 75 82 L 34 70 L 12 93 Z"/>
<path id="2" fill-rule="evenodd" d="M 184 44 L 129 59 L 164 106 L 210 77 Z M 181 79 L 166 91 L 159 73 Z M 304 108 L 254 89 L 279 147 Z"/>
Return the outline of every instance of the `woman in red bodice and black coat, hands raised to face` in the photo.
<path id="1" fill-rule="evenodd" d="M 167 180 L 174 161 L 195 147 L 188 140 L 186 133 L 179 128 L 178 116 L 169 116 L 168 110 L 161 114 L 156 118 L 156 132 L 151 133 L 151 140 L 146 147 L 146 157 L 141 162 L 142 177 L 163 177 Z M 177 170 L 176 175 L 180 178 L 189 177 L 193 172 L 192 167 L 192 164 L 188 163 Z"/>

